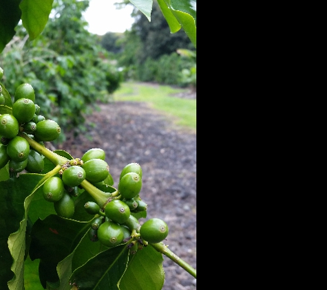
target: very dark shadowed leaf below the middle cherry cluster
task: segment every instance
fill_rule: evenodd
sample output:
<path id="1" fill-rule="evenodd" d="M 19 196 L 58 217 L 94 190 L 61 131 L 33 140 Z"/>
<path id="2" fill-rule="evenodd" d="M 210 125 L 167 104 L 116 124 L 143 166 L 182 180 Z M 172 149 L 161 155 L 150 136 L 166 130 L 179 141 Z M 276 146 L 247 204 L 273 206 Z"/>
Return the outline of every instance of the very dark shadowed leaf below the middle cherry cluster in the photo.
<path id="1" fill-rule="evenodd" d="M 31 260 L 40 259 L 39 276 L 45 288 L 48 282 L 58 282 L 56 267 L 70 255 L 89 229 L 88 222 L 65 219 L 56 214 L 38 219 L 31 232 Z M 67 267 L 67 266 L 66 266 Z"/>

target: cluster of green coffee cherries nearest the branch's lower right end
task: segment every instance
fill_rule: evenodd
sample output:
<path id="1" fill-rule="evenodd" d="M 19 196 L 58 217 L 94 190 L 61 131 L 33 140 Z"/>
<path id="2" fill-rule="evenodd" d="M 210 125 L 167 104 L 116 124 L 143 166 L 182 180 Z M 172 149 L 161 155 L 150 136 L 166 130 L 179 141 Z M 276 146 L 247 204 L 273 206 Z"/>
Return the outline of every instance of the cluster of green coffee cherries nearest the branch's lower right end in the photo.
<path id="1" fill-rule="evenodd" d="M 149 219 L 140 225 L 136 218 L 136 213 L 147 210 L 147 203 L 140 199 L 142 175 L 140 164 L 127 164 L 120 172 L 118 195 L 104 208 L 94 201 L 85 203 L 85 210 L 95 214 L 88 232 L 91 241 L 100 241 L 106 247 L 129 242 L 131 252 L 135 253 L 139 247 L 159 243 L 167 237 L 168 225 L 162 219 Z M 109 186 L 112 184 L 113 181 L 108 183 Z"/>

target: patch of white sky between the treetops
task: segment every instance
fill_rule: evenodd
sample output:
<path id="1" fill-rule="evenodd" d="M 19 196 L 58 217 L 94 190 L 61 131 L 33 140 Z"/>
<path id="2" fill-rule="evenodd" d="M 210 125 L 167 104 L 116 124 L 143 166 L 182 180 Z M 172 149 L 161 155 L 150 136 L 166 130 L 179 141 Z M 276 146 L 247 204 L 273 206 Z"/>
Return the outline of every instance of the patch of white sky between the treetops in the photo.
<path id="1" fill-rule="evenodd" d="M 134 23 L 131 18 L 132 5 L 116 9 L 114 3 L 118 0 L 90 0 L 89 8 L 83 13 L 85 21 L 89 23 L 88 31 L 103 35 L 107 32 L 125 32 Z"/>

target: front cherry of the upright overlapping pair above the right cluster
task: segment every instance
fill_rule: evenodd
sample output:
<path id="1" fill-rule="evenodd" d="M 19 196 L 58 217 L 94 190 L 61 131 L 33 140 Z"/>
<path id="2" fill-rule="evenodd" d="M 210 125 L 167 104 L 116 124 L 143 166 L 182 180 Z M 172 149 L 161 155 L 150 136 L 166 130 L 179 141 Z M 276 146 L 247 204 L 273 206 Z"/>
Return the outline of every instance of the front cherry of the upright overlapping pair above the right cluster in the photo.
<path id="1" fill-rule="evenodd" d="M 118 184 L 118 191 L 125 199 L 132 199 L 140 193 L 142 179 L 136 172 L 126 173 Z"/>

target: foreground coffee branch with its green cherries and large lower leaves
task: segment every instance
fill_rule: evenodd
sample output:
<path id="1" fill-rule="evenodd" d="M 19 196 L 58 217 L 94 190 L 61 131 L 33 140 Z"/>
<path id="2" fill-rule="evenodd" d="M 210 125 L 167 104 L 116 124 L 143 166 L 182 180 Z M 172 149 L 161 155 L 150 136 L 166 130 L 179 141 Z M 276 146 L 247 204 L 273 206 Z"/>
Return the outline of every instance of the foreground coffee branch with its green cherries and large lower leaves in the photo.
<path id="1" fill-rule="evenodd" d="M 102 148 L 72 157 L 45 146 L 61 127 L 41 115 L 32 85 L 14 98 L 0 89 L 0 289 L 162 289 L 162 254 L 196 278 L 165 245 L 169 225 L 147 219 L 140 164 L 122 168 L 115 188 Z"/>

